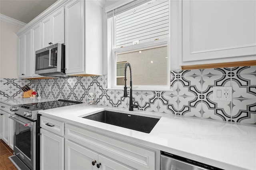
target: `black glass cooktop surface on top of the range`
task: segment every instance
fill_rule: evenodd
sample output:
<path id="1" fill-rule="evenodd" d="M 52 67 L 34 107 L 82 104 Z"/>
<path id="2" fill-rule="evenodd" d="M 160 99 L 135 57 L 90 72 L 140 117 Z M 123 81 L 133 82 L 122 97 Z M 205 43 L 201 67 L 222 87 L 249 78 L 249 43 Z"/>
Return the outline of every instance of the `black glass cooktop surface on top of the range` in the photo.
<path id="1" fill-rule="evenodd" d="M 30 111 L 36 111 L 36 110 L 46 110 L 46 109 L 53 109 L 53 108 L 57 108 L 57 107 L 76 105 L 76 104 L 80 104 L 80 103 L 82 103 L 82 102 L 59 99 L 56 101 L 29 103 L 29 104 L 19 105 L 18 107 L 28 109 Z"/>

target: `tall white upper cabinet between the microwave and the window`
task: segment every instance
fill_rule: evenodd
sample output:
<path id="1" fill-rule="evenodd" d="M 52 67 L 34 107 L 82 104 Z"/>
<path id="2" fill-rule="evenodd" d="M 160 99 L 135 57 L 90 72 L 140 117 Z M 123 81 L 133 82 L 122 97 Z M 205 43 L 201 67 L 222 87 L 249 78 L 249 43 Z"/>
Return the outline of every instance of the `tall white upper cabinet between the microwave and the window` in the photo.
<path id="1" fill-rule="evenodd" d="M 102 75 L 102 7 L 97 1 L 65 5 L 67 75 Z"/>

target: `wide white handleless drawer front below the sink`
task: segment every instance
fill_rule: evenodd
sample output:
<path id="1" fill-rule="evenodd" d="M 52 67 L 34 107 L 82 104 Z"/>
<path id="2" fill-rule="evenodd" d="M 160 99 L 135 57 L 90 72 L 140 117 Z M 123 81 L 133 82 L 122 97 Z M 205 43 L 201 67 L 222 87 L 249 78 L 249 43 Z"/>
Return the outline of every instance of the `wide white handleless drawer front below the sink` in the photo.
<path id="1" fill-rule="evenodd" d="M 139 170 L 155 169 L 155 152 L 66 124 L 65 138 Z"/>

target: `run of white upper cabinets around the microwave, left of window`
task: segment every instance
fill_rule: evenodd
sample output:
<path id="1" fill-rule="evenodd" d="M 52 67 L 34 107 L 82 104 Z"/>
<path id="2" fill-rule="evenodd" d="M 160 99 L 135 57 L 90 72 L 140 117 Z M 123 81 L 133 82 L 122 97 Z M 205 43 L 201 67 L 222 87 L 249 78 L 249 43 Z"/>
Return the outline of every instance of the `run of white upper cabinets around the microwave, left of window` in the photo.
<path id="1" fill-rule="evenodd" d="M 98 1 L 54 3 L 16 33 L 19 37 L 19 78 L 42 77 L 35 74 L 35 52 L 55 43 L 65 44 L 67 75 L 102 75 L 102 18 L 103 9 Z M 29 35 L 26 34 L 28 30 L 31 31 Z M 30 36 L 31 46 L 25 44 L 27 36 Z M 28 47 L 30 55 L 25 55 Z"/>

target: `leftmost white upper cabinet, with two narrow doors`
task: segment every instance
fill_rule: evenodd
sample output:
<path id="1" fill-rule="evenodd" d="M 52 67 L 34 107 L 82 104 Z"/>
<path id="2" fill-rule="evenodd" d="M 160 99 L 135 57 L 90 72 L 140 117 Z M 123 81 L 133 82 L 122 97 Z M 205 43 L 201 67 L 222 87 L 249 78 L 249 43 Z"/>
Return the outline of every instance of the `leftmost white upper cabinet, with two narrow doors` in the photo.
<path id="1" fill-rule="evenodd" d="M 18 77 L 31 77 L 31 29 L 18 37 Z"/>

